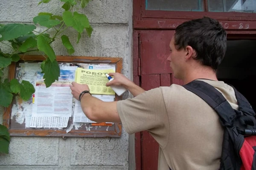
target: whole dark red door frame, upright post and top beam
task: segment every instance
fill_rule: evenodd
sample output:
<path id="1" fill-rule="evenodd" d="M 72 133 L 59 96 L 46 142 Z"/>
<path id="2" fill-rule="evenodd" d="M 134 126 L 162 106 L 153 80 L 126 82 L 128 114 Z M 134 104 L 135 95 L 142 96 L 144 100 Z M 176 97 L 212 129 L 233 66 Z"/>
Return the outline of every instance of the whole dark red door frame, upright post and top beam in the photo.
<path id="1" fill-rule="evenodd" d="M 207 0 L 204 0 L 205 6 Z M 167 17 L 166 17 L 167 16 Z M 170 16 L 170 17 L 169 17 Z M 227 31 L 227 38 L 256 40 L 256 14 L 236 12 L 188 12 L 188 11 L 147 11 L 145 0 L 133 0 L 133 79 L 141 86 L 140 77 L 140 30 L 174 30 L 186 20 L 208 16 L 220 21 Z M 178 82 L 179 83 L 179 82 Z M 136 170 L 142 170 L 142 138 L 135 134 Z"/>

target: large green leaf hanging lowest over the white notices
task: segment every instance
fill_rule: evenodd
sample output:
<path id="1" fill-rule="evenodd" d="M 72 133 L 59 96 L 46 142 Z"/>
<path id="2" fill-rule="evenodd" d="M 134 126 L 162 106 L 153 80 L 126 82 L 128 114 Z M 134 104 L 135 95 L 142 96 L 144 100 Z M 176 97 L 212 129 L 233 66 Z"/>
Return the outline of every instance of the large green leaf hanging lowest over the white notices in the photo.
<path id="1" fill-rule="evenodd" d="M 59 75 L 60 67 L 58 62 L 56 60 L 51 62 L 47 59 L 44 63 L 44 83 L 46 87 L 48 88 L 55 80 L 58 80 Z"/>

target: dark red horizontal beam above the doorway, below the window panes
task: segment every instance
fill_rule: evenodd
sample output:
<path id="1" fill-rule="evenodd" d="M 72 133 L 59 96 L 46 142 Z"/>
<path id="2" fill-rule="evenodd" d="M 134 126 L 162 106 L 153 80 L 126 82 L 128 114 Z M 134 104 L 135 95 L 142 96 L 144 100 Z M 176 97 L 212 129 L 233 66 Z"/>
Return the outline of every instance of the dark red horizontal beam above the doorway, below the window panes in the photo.
<path id="1" fill-rule="evenodd" d="M 212 17 L 220 21 L 226 30 L 256 30 L 256 13 L 209 12 L 207 0 L 205 11 L 157 11 L 145 10 L 145 0 L 133 0 L 134 29 L 175 29 L 186 20 Z"/>

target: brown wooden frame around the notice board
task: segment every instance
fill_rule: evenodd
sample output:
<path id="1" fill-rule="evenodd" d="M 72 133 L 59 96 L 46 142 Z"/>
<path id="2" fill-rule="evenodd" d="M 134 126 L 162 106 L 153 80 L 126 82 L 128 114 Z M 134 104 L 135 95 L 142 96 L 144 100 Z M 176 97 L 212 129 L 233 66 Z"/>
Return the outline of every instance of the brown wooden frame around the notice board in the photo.
<path id="1" fill-rule="evenodd" d="M 24 55 L 21 56 L 19 62 L 13 62 L 9 66 L 9 79 L 15 78 L 19 63 L 23 62 L 42 62 L 44 56 L 38 55 Z M 56 56 L 58 63 L 82 63 L 94 65 L 115 65 L 116 72 L 121 73 L 122 58 L 116 57 L 76 57 L 76 56 Z M 115 101 L 121 99 L 120 96 L 115 95 Z M 10 136 L 74 136 L 74 137 L 120 137 L 122 133 L 121 123 L 81 123 L 79 127 L 73 126 L 73 117 L 68 120 L 67 128 L 33 128 L 26 127 L 25 122 L 17 121 L 29 116 L 31 111 L 26 110 L 26 107 L 21 106 L 22 99 L 17 97 L 13 100 L 12 105 L 5 108 L 3 113 L 3 125 L 9 129 Z M 32 103 L 30 103 L 32 105 Z M 30 105 L 29 103 L 26 105 Z M 12 109 L 15 107 L 15 113 L 12 114 Z M 30 107 L 30 106 L 29 106 Z M 73 110 L 73 108 L 72 108 Z M 16 112 L 17 111 L 17 112 Z M 13 111 L 14 112 L 14 111 Z"/>

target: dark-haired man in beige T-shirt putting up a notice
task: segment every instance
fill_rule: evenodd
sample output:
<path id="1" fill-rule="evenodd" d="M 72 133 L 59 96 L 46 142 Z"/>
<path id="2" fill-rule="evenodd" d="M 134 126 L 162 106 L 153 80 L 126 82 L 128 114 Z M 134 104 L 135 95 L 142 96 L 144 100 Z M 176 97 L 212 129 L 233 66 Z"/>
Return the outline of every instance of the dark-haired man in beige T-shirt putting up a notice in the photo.
<path id="1" fill-rule="evenodd" d="M 209 17 L 182 23 L 169 44 L 167 60 L 177 79 L 184 84 L 195 79 L 220 91 L 237 109 L 232 87 L 218 81 L 216 69 L 226 51 L 224 28 Z M 220 166 L 223 129 L 218 115 L 200 97 L 180 85 L 144 91 L 122 74 L 112 73 L 110 85 L 122 85 L 135 97 L 118 102 L 102 102 L 84 94 L 81 107 L 96 122 L 122 122 L 128 133 L 148 130 L 158 142 L 158 169 L 217 170 Z M 75 82 L 73 96 L 89 88 Z"/>

